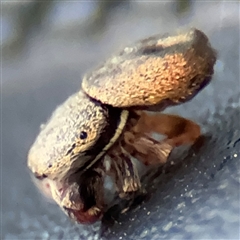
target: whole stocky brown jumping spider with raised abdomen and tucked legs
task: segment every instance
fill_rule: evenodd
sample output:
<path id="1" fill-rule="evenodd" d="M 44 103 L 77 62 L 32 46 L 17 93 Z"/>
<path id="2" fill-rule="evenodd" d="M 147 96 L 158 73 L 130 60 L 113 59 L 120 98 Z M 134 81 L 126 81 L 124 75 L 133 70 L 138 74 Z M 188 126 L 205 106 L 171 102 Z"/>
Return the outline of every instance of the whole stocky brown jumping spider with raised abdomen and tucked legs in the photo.
<path id="1" fill-rule="evenodd" d="M 36 184 L 71 219 L 101 219 L 106 175 L 121 198 L 130 198 L 141 191 L 132 157 L 164 164 L 174 147 L 200 136 L 196 123 L 159 111 L 193 98 L 210 82 L 215 61 L 206 35 L 191 29 L 139 41 L 86 74 L 29 151 Z M 166 138 L 157 141 L 154 133 Z"/>

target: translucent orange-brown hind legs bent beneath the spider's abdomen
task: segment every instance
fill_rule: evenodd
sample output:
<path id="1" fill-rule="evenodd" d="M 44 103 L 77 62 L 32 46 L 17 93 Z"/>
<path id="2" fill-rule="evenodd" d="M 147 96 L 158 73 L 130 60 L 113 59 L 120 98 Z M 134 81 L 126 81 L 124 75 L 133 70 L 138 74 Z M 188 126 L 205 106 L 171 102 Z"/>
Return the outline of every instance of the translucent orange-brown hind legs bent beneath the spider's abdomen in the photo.
<path id="1" fill-rule="evenodd" d="M 166 163 L 174 147 L 193 144 L 200 136 L 200 127 L 188 119 L 162 113 L 138 114 L 139 120 L 125 133 L 124 139 L 127 146 L 132 148 L 129 150 L 131 154 L 146 165 Z M 154 132 L 167 138 L 158 142 L 150 137 Z"/>

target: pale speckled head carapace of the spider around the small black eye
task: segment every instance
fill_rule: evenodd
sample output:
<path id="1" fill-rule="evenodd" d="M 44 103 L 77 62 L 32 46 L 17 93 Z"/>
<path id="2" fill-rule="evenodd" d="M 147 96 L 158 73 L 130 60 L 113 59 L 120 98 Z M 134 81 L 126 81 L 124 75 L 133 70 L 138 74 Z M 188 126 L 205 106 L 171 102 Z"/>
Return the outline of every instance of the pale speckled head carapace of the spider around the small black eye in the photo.
<path id="1" fill-rule="evenodd" d="M 28 155 L 31 171 L 39 177 L 60 179 L 70 169 L 91 163 L 111 138 L 105 134 L 103 139 L 103 132 L 115 135 L 119 111 L 114 110 L 110 120 L 108 114 L 106 108 L 91 101 L 81 91 L 69 97 L 42 126 L 32 145 Z M 111 131 L 106 131 L 109 126 Z M 82 131 L 87 133 L 83 140 L 80 138 Z"/>

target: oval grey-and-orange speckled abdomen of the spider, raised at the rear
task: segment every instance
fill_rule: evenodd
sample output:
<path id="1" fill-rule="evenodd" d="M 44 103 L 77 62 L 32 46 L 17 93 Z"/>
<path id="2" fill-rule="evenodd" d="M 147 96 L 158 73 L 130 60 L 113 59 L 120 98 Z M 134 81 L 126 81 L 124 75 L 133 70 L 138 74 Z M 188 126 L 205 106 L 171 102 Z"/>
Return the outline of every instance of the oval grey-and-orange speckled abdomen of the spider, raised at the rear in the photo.
<path id="1" fill-rule="evenodd" d="M 213 74 L 216 52 L 197 29 L 157 35 L 124 48 L 82 82 L 92 98 L 114 107 L 176 105 L 195 96 Z"/>

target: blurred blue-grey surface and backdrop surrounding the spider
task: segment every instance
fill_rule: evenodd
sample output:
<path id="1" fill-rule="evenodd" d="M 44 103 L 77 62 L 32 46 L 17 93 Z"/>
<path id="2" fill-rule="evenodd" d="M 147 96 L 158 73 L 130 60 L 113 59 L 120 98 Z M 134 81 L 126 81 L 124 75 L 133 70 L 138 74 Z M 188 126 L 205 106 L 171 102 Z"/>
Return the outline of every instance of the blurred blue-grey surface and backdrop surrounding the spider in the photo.
<path id="1" fill-rule="evenodd" d="M 206 141 L 149 169 L 151 197 L 105 227 L 103 239 L 239 239 L 239 1 L 1 1 L 1 239 L 98 239 L 33 185 L 27 152 L 39 126 L 86 71 L 136 40 L 196 27 L 218 51 L 212 83 L 168 109 Z"/>

